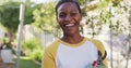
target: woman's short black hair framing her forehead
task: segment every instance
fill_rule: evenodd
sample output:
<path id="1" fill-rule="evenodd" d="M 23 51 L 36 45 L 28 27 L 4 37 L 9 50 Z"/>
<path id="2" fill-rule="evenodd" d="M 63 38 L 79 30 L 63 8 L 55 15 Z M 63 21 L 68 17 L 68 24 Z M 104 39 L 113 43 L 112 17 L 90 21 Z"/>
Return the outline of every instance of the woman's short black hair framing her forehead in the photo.
<path id="1" fill-rule="evenodd" d="M 57 13 L 58 8 L 59 8 L 62 3 L 66 3 L 66 2 L 71 2 L 71 3 L 76 4 L 80 14 L 82 13 L 81 8 L 80 8 L 80 4 L 79 4 L 75 0 L 60 0 L 60 1 L 57 3 L 56 8 L 55 8 L 56 13 Z"/>

